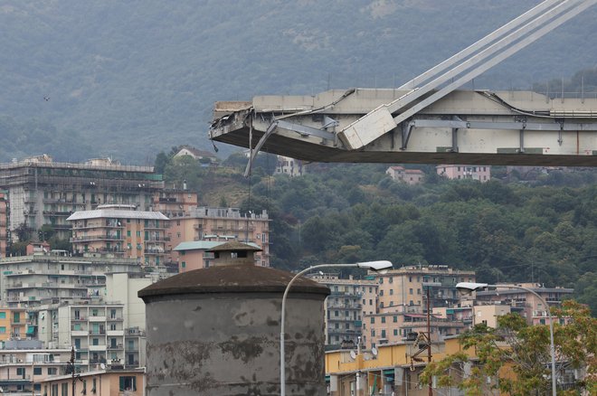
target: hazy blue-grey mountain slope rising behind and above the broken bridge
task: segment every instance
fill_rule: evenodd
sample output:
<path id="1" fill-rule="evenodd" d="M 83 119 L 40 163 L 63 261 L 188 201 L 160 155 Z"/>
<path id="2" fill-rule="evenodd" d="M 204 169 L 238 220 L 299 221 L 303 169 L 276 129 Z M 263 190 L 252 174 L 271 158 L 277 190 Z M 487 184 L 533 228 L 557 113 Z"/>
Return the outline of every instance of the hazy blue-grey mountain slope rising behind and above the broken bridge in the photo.
<path id="1" fill-rule="evenodd" d="M 0 161 L 152 162 L 211 147 L 215 100 L 393 87 L 538 0 L 5 0 Z M 529 88 L 597 60 L 597 7 L 475 81 Z M 225 151 L 225 149 L 224 149 Z"/>

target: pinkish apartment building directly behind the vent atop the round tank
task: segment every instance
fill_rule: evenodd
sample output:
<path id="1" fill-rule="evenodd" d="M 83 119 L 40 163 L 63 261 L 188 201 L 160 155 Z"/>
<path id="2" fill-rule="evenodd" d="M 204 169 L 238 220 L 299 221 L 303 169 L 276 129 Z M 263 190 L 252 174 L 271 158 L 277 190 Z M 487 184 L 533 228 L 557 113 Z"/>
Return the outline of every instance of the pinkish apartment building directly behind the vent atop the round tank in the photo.
<path id="1" fill-rule="evenodd" d="M 173 219 L 168 233 L 174 248 L 191 241 L 237 240 L 254 243 L 261 249 L 255 255 L 255 264 L 270 266 L 270 218 L 267 211 L 242 213 L 238 208 L 194 207 L 183 217 Z M 179 251 L 173 249 L 174 254 L 170 258 L 172 261 L 180 259 L 177 253 Z M 185 261 L 188 263 L 189 260 Z M 182 267 L 181 262 L 179 261 L 179 268 Z"/>

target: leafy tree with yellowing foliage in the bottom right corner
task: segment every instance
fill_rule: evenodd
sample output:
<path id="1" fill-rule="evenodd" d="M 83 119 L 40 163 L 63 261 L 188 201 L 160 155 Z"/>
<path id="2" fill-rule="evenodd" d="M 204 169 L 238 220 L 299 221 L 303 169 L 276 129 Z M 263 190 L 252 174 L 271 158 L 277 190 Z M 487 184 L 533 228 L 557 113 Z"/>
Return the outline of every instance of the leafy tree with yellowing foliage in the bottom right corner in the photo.
<path id="1" fill-rule="evenodd" d="M 573 300 L 552 309 L 557 372 L 564 369 L 585 369 L 586 375 L 562 394 L 597 391 L 597 319 L 589 308 Z M 557 319 L 559 320 L 557 320 Z M 460 336 L 462 351 L 430 363 L 422 373 L 421 382 L 437 376 L 441 387 L 457 386 L 467 395 L 482 395 L 487 387 L 516 395 L 548 395 L 551 393 L 551 355 L 549 327 L 527 325 L 517 314 L 498 317 L 498 328 L 476 325 Z M 469 375 L 459 379 L 451 370 Z M 504 375 L 505 372 L 508 375 Z M 499 376 L 498 382 L 487 384 L 488 377 Z"/>

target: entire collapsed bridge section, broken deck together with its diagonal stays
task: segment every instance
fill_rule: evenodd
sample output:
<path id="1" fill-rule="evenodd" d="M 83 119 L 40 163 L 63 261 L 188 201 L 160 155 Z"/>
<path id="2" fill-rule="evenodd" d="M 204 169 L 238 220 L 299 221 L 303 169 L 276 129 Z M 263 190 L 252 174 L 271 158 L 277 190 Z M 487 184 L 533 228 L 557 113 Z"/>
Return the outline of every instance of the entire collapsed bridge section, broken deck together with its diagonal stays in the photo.
<path id="1" fill-rule="evenodd" d="M 209 137 L 313 162 L 597 166 L 597 98 L 458 90 L 595 5 L 546 0 L 397 89 L 216 102 Z"/>

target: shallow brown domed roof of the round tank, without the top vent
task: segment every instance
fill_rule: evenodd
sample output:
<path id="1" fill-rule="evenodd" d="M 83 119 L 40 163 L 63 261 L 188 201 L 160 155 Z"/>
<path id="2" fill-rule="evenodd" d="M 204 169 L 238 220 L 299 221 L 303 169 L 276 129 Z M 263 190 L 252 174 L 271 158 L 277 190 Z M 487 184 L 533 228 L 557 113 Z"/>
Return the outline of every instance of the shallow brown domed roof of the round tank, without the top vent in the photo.
<path id="1" fill-rule="evenodd" d="M 154 283 L 138 291 L 138 297 L 214 293 L 277 293 L 282 294 L 295 274 L 280 269 L 232 265 L 194 269 Z M 327 297 L 329 288 L 301 277 L 292 284 L 290 294 L 304 293 Z"/>

